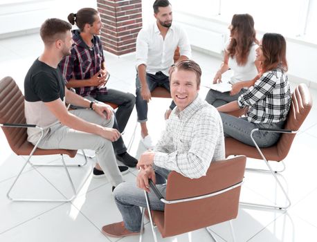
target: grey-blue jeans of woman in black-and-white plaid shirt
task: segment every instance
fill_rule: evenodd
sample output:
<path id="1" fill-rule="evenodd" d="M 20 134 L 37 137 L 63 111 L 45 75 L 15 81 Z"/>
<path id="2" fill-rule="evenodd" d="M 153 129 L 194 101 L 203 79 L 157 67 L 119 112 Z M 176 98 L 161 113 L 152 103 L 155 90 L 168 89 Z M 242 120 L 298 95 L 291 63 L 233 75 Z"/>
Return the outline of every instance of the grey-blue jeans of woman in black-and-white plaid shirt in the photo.
<path id="1" fill-rule="evenodd" d="M 255 124 L 253 122 L 248 122 L 246 117 L 237 118 L 226 113 L 220 113 L 222 124 L 224 127 L 224 136 L 232 137 L 240 142 L 255 146 L 251 140 L 251 131 L 257 128 L 271 128 L 271 129 L 282 129 L 284 127 L 283 122 L 275 122 L 271 124 Z M 281 133 L 273 132 L 255 132 L 253 133 L 253 138 L 257 145 L 261 148 L 271 147 L 280 138 Z"/>

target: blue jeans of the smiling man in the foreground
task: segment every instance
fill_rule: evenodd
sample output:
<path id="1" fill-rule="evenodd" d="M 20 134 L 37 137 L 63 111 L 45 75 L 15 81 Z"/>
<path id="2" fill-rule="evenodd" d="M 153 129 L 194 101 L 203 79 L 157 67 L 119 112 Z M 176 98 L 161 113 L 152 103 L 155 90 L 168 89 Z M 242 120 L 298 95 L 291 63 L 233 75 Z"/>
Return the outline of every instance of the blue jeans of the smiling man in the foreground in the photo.
<path id="1" fill-rule="evenodd" d="M 155 167 L 156 178 L 157 174 L 160 174 L 161 178 L 167 178 L 170 171 L 161 167 Z M 156 180 L 158 184 L 158 180 Z M 161 194 L 165 196 L 166 185 L 156 185 Z M 144 191 L 136 187 L 135 183 L 120 183 L 116 189 L 114 189 L 114 199 L 116 205 L 121 215 L 123 216 L 123 221 L 127 230 L 132 232 L 140 232 L 142 214 L 140 207 L 147 207 L 145 201 Z M 149 193 L 150 207 L 151 210 L 164 210 L 164 203 L 159 201 L 154 194 L 154 192 Z"/>

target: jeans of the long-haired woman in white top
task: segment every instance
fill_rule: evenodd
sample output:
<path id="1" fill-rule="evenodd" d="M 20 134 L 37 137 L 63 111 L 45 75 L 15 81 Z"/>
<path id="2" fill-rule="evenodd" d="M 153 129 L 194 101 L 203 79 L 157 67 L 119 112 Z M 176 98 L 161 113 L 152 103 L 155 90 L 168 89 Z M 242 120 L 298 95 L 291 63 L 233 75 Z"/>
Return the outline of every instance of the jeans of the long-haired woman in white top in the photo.
<path id="1" fill-rule="evenodd" d="M 241 89 L 239 93 L 231 96 L 229 92 L 221 93 L 219 91 L 210 89 L 206 95 L 205 100 L 206 102 L 208 102 L 208 104 L 211 104 L 212 106 L 215 106 L 217 108 L 218 106 L 222 106 L 224 104 L 227 104 L 228 102 L 237 100 L 239 95 L 242 95 L 245 91 L 246 89 Z"/>

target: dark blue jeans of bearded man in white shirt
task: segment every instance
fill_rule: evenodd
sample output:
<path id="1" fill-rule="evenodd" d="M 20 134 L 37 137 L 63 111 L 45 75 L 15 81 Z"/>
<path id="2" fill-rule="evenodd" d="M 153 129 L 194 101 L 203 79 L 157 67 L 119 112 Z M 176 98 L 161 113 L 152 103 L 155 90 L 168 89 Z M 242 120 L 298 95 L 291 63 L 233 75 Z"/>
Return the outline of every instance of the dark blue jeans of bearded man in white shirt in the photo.
<path id="1" fill-rule="evenodd" d="M 150 91 L 153 91 L 156 86 L 162 86 L 170 92 L 170 80 L 167 75 L 164 75 L 161 71 L 155 75 L 146 73 L 147 86 Z M 174 109 L 176 104 L 174 101 L 170 104 L 170 109 Z M 141 96 L 141 83 L 136 74 L 136 112 L 138 113 L 138 122 L 147 122 L 147 101 L 143 100 Z"/>

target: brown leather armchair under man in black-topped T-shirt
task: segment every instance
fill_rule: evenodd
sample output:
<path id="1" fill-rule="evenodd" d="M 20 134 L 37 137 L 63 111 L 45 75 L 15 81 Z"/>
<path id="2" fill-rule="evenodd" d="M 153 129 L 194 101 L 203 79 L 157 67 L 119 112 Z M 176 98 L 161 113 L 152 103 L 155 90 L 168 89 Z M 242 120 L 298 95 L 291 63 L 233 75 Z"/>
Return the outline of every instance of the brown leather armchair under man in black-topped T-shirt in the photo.
<path id="1" fill-rule="evenodd" d="M 84 156 L 85 162 L 83 164 L 66 165 L 64 162 L 63 155 L 68 155 L 69 157 L 74 158 L 77 153 L 77 150 L 39 149 L 37 145 L 39 144 L 40 140 L 37 142 L 36 145 L 33 145 L 30 142 L 28 142 L 27 140 L 28 135 L 26 133 L 27 128 L 40 129 L 42 131 L 42 134 L 43 134 L 43 129 L 41 127 L 37 127 L 35 124 L 26 124 L 26 118 L 24 115 L 24 95 L 21 93 L 21 91 L 19 90 L 19 86 L 17 86 L 17 84 L 15 83 L 15 80 L 13 80 L 12 77 L 4 77 L 2 80 L 0 80 L 0 127 L 3 130 L 3 133 L 5 134 L 12 151 L 15 152 L 17 156 L 28 156 L 21 171 L 19 171 L 19 174 L 15 178 L 15 181 L 13 182 L 12 186 L 8 190 L 7 196 L 10 200 L 12 201 L 69 202 L 69 201 L 72 201 L 77 196 L 78 192 L 76 191 L 75 186 L 73 185 L 73 180 L 71 179 L 71 176 L 69 175 L 69 170 L 67 169 L 67 167 L 70 167 L 70 166 L 82 167 L 84 165 L 87 165 L 86 156 Z M 32 156 L 47 156 L 47 155 L 55 155 L 55 154 L 61 155 L 62 165 L 51 165 L 51 164 L 33 165 L 33 163 L 30 161 L 30 158 Z M 12 191 L 12 188 L 17 183 L 17 180 L 21 176 L 27 164 L 31 165 L 33 169 L 35 169 L 35 171 L 37 171 L 38 166 L 64 167 L 66 171 L 66 176 L 73 190 L 73 196 L 69 198 L 62 198 L 62 199 L 12 198 L 10 196 L 10 192 Z M 43 176 L 39 171 L 37 172 L 46 181 L 48 181 L 48 179 L 45 176 Z M 90 174 L 91 172 L 89 172 L 85 180 L 87 180 Z M 48 183 L 51 184 L 50 181 L 48 181 Z M 83 184 L 84 183 L 82 183 L 82 185 Z M 80 188 L 78 188 L 78 190 L 80 190 Z"/>

